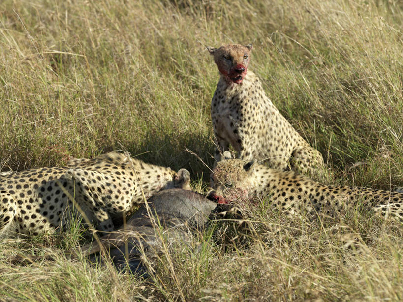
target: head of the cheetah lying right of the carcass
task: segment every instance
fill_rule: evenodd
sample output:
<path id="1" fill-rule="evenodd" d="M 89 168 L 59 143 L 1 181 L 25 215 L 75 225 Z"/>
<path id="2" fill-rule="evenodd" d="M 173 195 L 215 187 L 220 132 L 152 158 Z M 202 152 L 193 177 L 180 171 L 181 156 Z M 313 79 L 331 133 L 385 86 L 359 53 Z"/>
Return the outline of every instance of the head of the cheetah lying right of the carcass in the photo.
<path id="1" fill-rule="evenodd" d="M 241 159 L 219 161 L 210 175 L 212 190 L 208 198 L 217 203 L 228 204 L 240 198 L 253 197 L 254 165 L 254 161 Z"/>

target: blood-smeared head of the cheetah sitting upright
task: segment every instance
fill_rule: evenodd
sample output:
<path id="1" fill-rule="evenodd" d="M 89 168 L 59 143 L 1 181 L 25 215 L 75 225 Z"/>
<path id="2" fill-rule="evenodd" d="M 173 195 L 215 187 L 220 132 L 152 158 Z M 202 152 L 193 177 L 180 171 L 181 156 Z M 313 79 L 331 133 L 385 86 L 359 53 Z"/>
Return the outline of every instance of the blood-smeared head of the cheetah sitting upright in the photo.
<path id="1" fill-rule="evenodd" d="M 246 46 L 230 44 L 213 48 L 207 46 L 208 51 L 214 57 L 219 72 L 228 82 L 241 84 L 247 74 L 252 44 Z"/>

